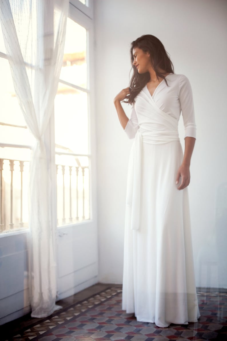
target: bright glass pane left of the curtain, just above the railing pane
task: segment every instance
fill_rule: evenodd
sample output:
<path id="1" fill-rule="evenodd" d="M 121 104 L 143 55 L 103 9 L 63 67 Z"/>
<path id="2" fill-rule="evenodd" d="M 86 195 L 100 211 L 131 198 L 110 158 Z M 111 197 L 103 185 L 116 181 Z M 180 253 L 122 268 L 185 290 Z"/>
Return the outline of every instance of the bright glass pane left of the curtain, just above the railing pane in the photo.
<path id="1" fill-rule="evenodd" d="M 27 129 L 20 110 L 7 59 L 0 58 L 0 74 L 4 79 L 4 81 L 0 82 L 0 142 L 31 146 L 34 143 L 34 137 Z"/>

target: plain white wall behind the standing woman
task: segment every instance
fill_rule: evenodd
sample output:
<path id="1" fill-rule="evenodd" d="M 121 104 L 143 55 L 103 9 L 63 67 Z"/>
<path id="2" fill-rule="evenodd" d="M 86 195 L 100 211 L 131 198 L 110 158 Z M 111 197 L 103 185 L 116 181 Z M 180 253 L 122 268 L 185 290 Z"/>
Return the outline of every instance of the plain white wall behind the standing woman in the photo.
<path id="1" fill-rule="evenodd" d="M 192 85 L 197 139 L 189 186 L 196 285 L 227 287 L 227 2 L 98 0 L 95 11 L 99 281 L 122 283 L 129 140 L 113 104 L 129 86 L 131 42 L 153 34 Z M 127 115 L 130 105 L 124 104 Z M 183 141 L 182 117 L 179 122 Z M 210 271 L 210 272 L 209 272 Z"/>

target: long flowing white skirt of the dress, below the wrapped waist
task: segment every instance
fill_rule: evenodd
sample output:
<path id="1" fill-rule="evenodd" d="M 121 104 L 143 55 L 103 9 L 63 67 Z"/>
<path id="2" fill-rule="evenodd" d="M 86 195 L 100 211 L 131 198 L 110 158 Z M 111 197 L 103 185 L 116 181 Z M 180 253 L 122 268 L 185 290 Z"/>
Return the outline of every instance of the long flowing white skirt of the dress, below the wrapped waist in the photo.
<path id="1" fill-rule="evenodd" d="M 183 160 L 179 140 L 142 143 L 140 228 L 131 229 L 126 205 L 122 309 L 137 321 L 169 324 L 197 322 L 188 187 L 178 190 Z M 132 145 L 127 177 L 134 167 Z"/>

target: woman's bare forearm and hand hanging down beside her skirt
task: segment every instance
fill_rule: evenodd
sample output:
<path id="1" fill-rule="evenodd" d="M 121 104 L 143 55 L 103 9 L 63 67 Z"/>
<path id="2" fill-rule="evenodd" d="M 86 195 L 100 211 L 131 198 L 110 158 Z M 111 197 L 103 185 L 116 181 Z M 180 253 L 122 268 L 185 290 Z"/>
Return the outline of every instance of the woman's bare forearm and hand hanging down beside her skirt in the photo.
<path id="1" fill-rule="evenodd" d="M 176 183 L 179 182 L 181 177 L 181 184 L 177 188 L 178 190 L 182 190 L 187 187 L 190 183 L 190 162 L 192 157 L 193 148 L 195 145 L 195 138 L 191 136 L 187 136 L 184 138 L 184 158 L 181 166 L 178 168 Z"/>

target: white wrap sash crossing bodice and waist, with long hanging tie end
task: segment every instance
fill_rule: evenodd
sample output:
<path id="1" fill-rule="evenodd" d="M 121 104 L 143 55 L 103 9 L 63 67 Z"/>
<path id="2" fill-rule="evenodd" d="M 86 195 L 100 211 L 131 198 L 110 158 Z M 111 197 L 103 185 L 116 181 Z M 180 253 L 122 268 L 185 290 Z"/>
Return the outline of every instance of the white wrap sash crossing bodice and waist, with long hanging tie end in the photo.
<path id="1" fill-rule="evenodd" d="M 139 129 L 136 132 L 134 145 L 132 145 L 132 169 L 130 169 L 127 184 L 126 206 L 129 209 L 132 230 L 140 227 L 141 203 L 141 166 L 142 145 L 163 144 L 179 141 L 178 121 L 163 112 L 153 100 L 149 90 L 144 87 L 137 95 L 135 110 L 139 113 Z"/>

